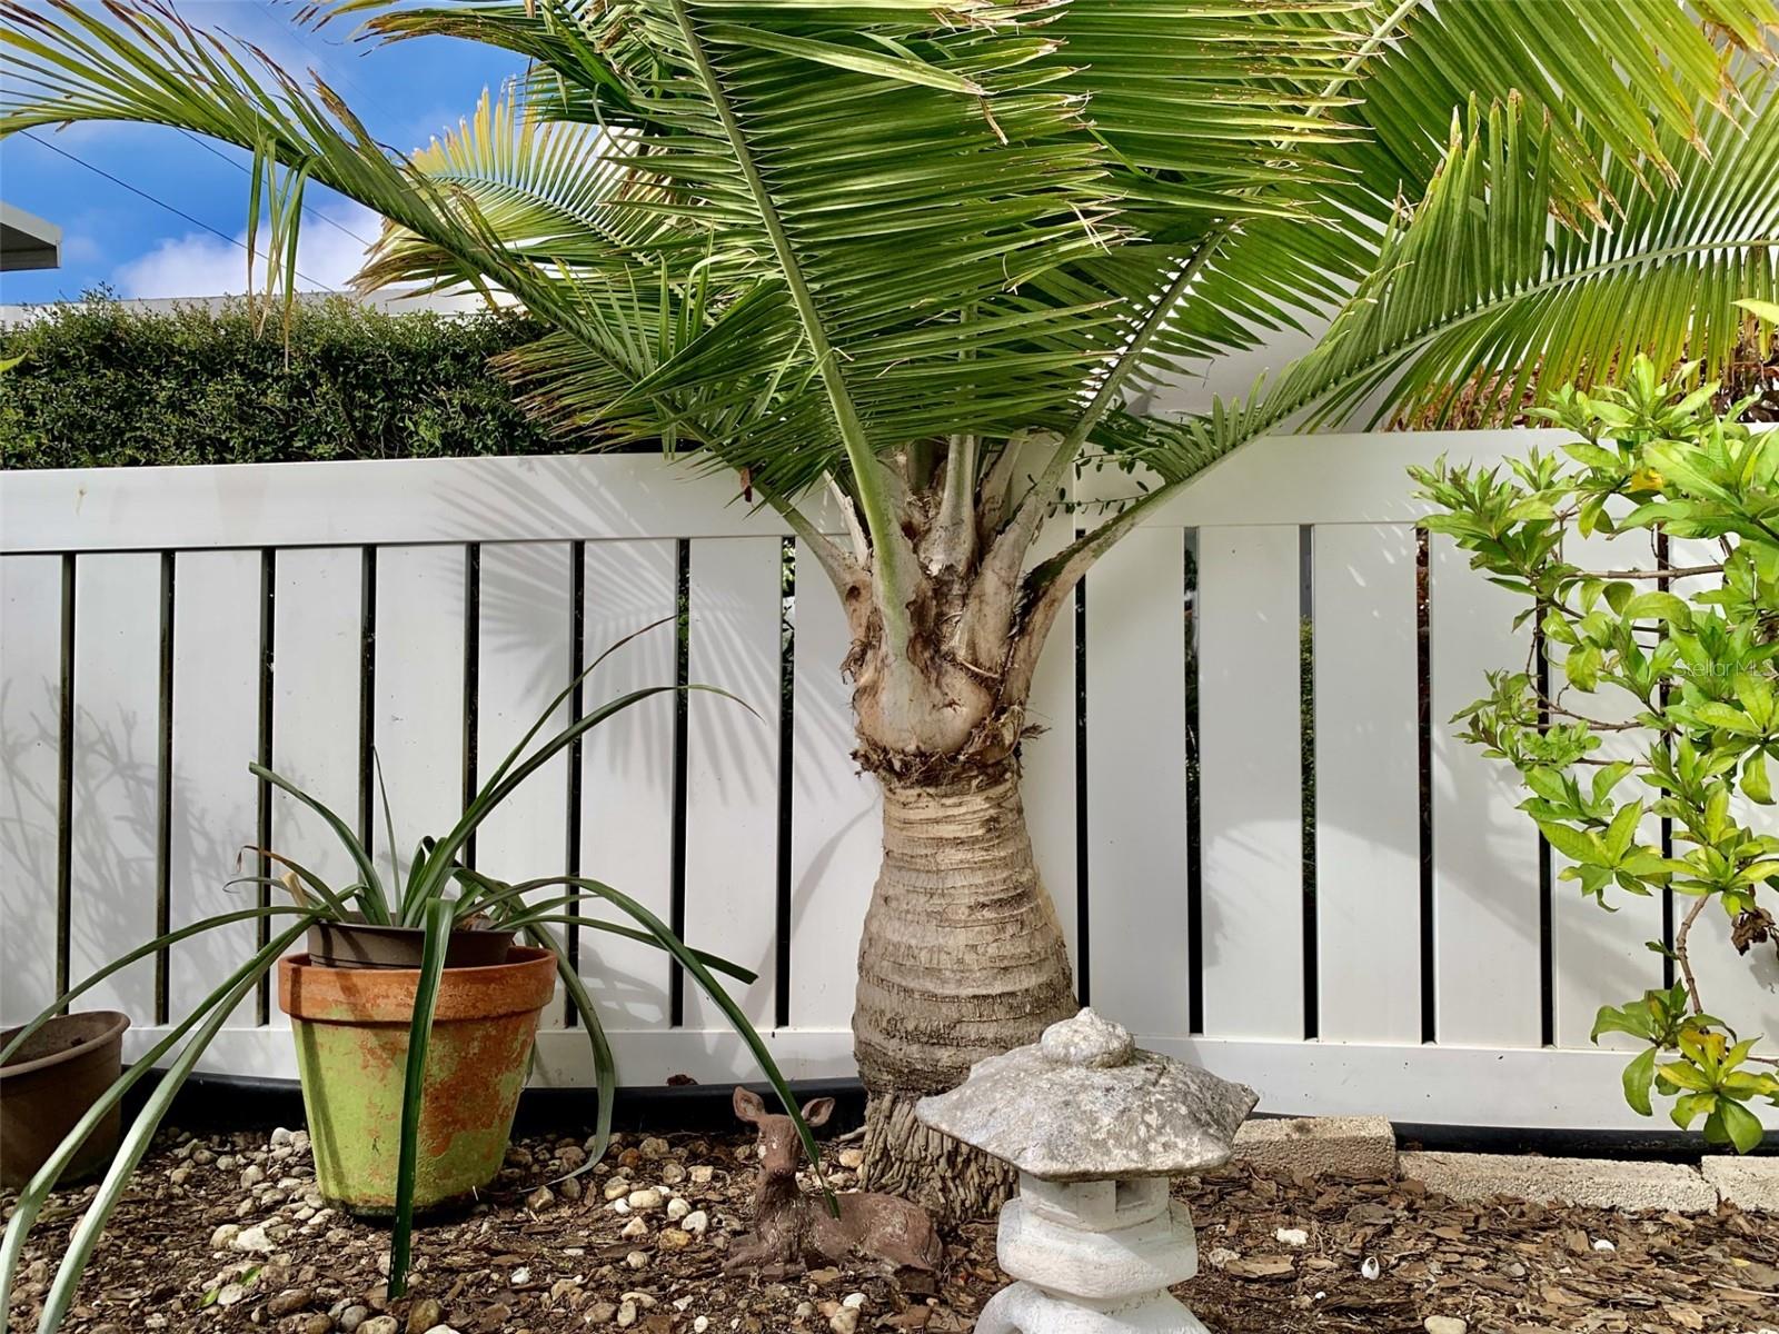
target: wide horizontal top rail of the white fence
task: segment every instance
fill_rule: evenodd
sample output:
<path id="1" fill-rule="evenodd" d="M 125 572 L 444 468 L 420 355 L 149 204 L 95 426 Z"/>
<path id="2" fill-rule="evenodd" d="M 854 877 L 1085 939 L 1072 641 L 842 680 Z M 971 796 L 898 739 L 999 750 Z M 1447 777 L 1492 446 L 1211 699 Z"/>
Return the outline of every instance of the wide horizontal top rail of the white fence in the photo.
<path id="1" fill-rule="evenodd" d="M 1496 462 L 1558 430 L 1277 436 L 1206 470 L 1147 523 L 1414 523 L 1404 470 L 1441 454 Z M 1139 494 L 1117 470 L 1089 473 L 1085 502 Z M 825 532 L 834 505 L 815 498 Z M 511 459 L 368 459 L 190 468 L 0 473 L 0 551 L 141 551 L 262 546 L 786 537 L 728 473 L 655 454 Z"/>

